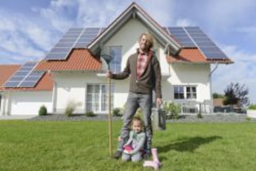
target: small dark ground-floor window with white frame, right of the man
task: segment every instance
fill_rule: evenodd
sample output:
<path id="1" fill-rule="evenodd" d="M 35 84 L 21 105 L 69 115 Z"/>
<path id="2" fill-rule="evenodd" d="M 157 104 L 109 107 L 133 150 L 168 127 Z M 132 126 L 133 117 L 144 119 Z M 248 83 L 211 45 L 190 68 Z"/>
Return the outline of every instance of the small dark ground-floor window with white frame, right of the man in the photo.
<path id="1" fill-rule="evenodd" d="M 174 99 L 197 99 L 197 87 L 174 86 Z"/>

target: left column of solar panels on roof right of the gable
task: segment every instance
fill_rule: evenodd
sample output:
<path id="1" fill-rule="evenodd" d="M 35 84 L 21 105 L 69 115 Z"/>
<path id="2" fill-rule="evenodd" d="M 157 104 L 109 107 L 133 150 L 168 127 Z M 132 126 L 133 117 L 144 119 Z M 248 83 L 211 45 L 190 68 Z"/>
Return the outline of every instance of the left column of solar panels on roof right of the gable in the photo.
<path id="1" fill-rule="evenodd" d="M 182 46 L 187 48 L 197 47 L 183 27 L 168 27 L 168 31 L 182 44 Z"/>

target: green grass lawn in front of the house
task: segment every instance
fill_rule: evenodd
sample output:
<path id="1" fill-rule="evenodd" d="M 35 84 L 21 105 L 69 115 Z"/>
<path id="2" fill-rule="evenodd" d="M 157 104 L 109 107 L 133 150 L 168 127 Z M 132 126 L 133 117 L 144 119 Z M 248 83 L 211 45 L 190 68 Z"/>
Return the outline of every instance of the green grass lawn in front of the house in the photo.
<path id="1" fill-rule="evenodd" d="M 121 122 L 113 122 L 114 147 Z M 0 121 L 0 170 L 153 170 L 111 159 L 106 122 Z M 161 170 L 256 170 L 256 124 L 168 123 Z"/>

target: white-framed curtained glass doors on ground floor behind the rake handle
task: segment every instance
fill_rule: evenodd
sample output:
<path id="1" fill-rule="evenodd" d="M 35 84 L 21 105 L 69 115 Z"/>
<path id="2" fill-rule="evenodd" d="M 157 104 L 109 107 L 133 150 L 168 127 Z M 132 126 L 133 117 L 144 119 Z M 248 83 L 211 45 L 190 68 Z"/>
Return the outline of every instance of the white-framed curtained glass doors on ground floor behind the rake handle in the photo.
<path id="1" fill-rule="evenodd" d="M 113 109 L 113 90 L 111 85 L 111 108 Z M 107 112 L 108 111 L 108 85 L 87 85 L 86 111 Z"/>

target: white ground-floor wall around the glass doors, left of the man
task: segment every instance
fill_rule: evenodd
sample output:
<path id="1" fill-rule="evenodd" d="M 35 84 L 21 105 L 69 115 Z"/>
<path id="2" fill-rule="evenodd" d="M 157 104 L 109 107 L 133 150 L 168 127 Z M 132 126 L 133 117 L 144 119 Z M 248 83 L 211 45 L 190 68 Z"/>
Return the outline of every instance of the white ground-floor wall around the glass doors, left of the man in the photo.
<path id="1" fill-rule="evenodd" d="M 74 113 L 83 114 L 86 109 L 87 84 L 108 84 L 105 76 L 93 72 L 53 73 L 56 81 L 56 113 L 63 113 L 69 101 L 79 104 Z M 111 80 L 114 85 L 114 107 L 123 107 L 129 92 L 129 78 Z"/>

